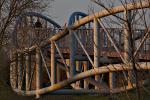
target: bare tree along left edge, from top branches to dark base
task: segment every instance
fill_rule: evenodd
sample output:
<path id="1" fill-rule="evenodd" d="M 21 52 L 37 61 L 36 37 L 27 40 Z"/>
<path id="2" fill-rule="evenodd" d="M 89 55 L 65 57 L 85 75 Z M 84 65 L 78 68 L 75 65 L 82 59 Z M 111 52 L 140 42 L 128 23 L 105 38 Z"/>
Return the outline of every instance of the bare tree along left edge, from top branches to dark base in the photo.
<path id="1" fill-rule="evenodd" d="M 45 11 L 52 1 L 53 0 L 0 0 L 0 84 L 2 87 L 7 86 L 9 82 L 7 52 L 2 51 L 2 48 L 7 48 L 11 42 L 10 36 L 13 32 L 17 16 L 26 11 Z M 7 90 L 1 90 L 0 88 L 0 91 Z"/>

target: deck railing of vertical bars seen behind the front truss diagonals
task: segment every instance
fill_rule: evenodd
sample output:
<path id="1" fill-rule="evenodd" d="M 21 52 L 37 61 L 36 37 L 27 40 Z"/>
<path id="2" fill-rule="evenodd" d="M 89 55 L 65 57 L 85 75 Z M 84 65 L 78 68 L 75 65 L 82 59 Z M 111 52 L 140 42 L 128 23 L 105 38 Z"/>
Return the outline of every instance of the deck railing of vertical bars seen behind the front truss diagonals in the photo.
<path id="1" fill-rule="evenodd" d="M 119 48 L 121 52 L 124 51 L 124 36 L 123 36 L 123 29 L 119 28 L 107 28 L 107 30 L 110 32 L 111 37 L 113 38 L 115 44 Z M 78 35 L 79 39 L 81 40 L 82 44 L 85 46 L 86 50 L 89 54 L 93 53 L 94 47 L 94 36 L 93 36 L 93 29 L 77 29 L 75 33 Z M 144 30 L 134 30 L 133 31 L 133 41 L 135 41 L 135 48 L 138 47 L 138 44 L 142 40 L 142 37 L 144 36 Z M 107 35 L 105 34 L 104 30 L 100 28 L 100 52 L 101 51 L 115 51 L 113 44 L 108 39 Z M 59 40 L 59 46 L 60 48 L 64 49 L 63 52 L 68 53 L 69 52 L 69 44 L 70 44 L 70 37 L 67 35 L 65 38 Z M 76 47 L 76 53 L 82 54 L 82 48 L 80 44 L 76 41 L 75 42 Z M 150 51 L 150 39 L 147 38 L 144 44 L 142 45 L 140 49 L 140 53 L 144 53 Z"/>

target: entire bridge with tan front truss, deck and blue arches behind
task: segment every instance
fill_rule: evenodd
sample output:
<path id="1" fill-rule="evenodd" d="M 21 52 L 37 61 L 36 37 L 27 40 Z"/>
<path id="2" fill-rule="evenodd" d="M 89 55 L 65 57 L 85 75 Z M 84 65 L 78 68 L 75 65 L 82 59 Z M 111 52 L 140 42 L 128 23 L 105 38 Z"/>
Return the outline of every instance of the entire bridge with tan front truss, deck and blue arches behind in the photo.
<path id="1" fill-rule="evenodd" d="M 127 12 L 149 7 L 143 1 L 92 15 L 74 12 L 62 27 L 39 13 L 21 14 L 12 33 L 12 89 L 39 98 L 46 93 L 118 93 L 135 88 L 136 81 L 148 83 L 150 28 L 132 30 L 131 35 L 128 26 L 107 28 L 101 19 L 117 13 L 129 16 Z M 135 79 L 133 65 L 141 73 L 140 80 Z"/>

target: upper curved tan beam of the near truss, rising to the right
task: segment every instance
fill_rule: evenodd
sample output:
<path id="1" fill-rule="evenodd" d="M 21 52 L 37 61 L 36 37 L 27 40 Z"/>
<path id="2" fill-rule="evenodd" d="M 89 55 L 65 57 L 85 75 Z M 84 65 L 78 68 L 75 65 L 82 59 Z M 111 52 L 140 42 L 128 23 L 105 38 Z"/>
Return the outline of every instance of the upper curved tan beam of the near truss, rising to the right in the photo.
<path id="1" fill-rule="evenodd" d="M 142 9 L 142 8 L 150 7 L 150 3 L 148 1 L 142 1 L 141 3 L 137 2 L 135 4 L 129 3 L 129 4 L 127 4 L 126 7 L 127 7 L 126 10 Z M 97 13 L 93 14 L 93 15 L 86 16 L 86 17 L 80 19 L 79 21 L 76 21 L 74 23 L 74 25 L 65 27 L 62 31 L 56 33 L 56 35 L 51 37 L 48 41 L 45 41 L 44 43 L 41 43 L 40 46 L 41 47 L 46 46 L 46 45 L 50 44 L 50 41 L 57 41 L 57 40 L 63 38 L 64 36 L 69 34 L 70 29 L 71 30 L 76 30 L 80 26 L 82 26 L 82 25 L 84 25 L 88 22 L 91 22 L 95 17 L 102 18 L 102 17 L 109 16 L 111 14 L 120 13 L 120 12 L 123 12 L 125 10 L 125 8 L 124 8 L 123 5 L 121 5 L 121 6 L 113 7 L 110 10 L 111 10 L 112 13 L 108 12 L 107 10 L 102 10 L 100 12 L 97 12 Z M 29 50 L 32 51 L 35 48 L 36 48 L 36 46 L 32 46 L 32 47 L 29 48 Z"/>

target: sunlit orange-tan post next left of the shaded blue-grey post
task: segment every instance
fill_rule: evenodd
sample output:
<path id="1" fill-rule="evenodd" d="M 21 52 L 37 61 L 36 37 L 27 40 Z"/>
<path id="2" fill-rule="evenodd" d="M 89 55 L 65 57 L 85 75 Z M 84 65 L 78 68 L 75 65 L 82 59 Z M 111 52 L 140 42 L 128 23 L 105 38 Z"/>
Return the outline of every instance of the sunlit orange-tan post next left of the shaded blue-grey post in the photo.
<path id="1" fill-rule="evenodd" d="M 51 41 L 51 85 L 56 83 L 56 58 L 55 58 L 55 44 Z"/>

